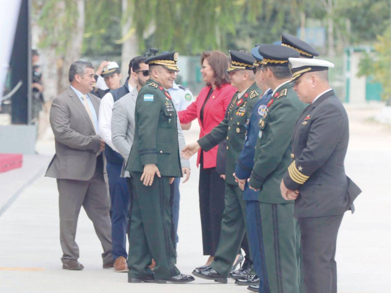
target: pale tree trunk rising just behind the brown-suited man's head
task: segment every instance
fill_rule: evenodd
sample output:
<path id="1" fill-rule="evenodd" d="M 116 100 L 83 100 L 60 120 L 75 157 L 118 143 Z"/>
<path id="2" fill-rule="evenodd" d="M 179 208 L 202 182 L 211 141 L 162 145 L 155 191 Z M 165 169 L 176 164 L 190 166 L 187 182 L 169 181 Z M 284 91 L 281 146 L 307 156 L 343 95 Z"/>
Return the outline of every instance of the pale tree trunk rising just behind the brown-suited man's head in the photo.
<path id="1" fill-rule="evenodd" d="M 59 71 L 59 91 L 64 91 L 68 85 L 68 72 L 72 63 L 80 59 L 81 46 L 83 45 L 84 34 L 84 0 L 75 0 L 77 5 L 78 17 L 75 23 L 75 29 L 72 31 L 71 38 L 66 45 L 63 64 Z"/>

